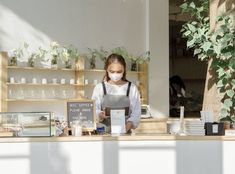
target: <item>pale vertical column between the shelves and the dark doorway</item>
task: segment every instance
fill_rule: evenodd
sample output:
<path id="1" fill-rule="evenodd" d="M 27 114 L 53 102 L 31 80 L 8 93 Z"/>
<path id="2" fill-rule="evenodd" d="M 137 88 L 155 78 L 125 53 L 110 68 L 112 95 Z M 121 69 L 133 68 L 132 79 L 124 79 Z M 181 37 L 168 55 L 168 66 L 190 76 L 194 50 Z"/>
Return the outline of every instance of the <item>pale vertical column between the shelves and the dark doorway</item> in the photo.
<path id="1" fill-rule="evenodd" d="M 146 49 L 150 50 L 149 104 L 154 117 L 169 116 L 169 4 L 146 0 Z"/>

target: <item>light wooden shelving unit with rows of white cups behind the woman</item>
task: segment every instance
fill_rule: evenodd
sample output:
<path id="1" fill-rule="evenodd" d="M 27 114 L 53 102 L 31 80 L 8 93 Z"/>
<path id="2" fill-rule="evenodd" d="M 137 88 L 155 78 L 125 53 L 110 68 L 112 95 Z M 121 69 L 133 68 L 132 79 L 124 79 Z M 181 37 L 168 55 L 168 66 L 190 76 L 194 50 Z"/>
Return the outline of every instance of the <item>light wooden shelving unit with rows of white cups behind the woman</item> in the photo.
<path id="1" fill-rule="evenodd" d="M 85 69 L 84 59 L 79 59 L 75 67 L 79 69 L 65 69 L 65 68 L 47 68 L 47 67 L 22 67 L 22 66 L 8 66 L 8 55 L 6 52 L 0 52 L 0 112 L 8 111 L 8 106 L 17 105 L 27 105 L 33 103 L 45 103 L 47 105 L 55 105 L 58 102 L 64 102 L 68 100 L 80 100 L 87 99 L 91 97 L 91 91 L 95 87 L 94 79 L 89 79 L 96 77 L 96 82 L 99 83 L 105 73 L 101 69 Z M 143 104 L 148 103 L 148 81 L 147 81 L 147 64 L 142 64 L 139 66 L 139 71 L 127 71 L 127 76 L 130 78 L 134 77 L 139 81 L 138 89 L 141 94 L 141 102 Z M 61 84 L 59 82 L 53 83 L 52 79 L 57 76 L 57 80 L 65 78 L 66 83 Z M 64 76 L 64 77 L 63 77 Z M 10 77 L 15 77 L 15 82 L 10 83 Z M 20 78 L 26 78 L 25 83 L 21 83 Z M 36 77 L 37 83 L 33 83 L 32 79 Z M 47 79 L 46 84 L 42 84 L 41 80 L 43 78 Z M 128 79 L 130 79 L 128 77 Z M 69 79 L 74 79 L 75 83 L 70 84 Z M 89 80 L 89 83 L 85 83 L 85 80 Z M 98 81 L 99 79 L 99 81 Z M 132 80 L 132 79 L 130 79 Z M 17 92 L 17 90 L 23 91 L 23 96 L 17 96 L 15 94 L 9 95 L 9 92 Z M 50 96 L 52 91 L 69 93 L 65 97 L 62 93 L 54 96 Z M 21 92 L 20 91 L 20 92 Z M 34 91 L 33 93 L 37 97 L 28 97 L 29 91 Z M 44 91 L 44 95 L 41 92 Z M 18 91 L 19 92 L 19 91 Z M 26 95 L 26 96 L 24 96 Z M 40 96 L 41 95 L 41 96 Z M 50 102 L 50 104 L 48 104 Z M 14 104 L 16 103 L 16 104 Z"/>

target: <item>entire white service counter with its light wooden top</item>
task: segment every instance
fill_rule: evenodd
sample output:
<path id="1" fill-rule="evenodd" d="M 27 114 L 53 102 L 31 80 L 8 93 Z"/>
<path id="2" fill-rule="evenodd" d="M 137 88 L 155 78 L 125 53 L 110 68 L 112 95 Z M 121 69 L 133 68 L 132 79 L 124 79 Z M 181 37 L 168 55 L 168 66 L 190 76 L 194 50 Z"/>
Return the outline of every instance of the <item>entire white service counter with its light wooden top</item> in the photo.
<path id="1" fill-rule="evenodd" d="M 0 138 L 7 174 L 233 174 L 235 136 Z"/>

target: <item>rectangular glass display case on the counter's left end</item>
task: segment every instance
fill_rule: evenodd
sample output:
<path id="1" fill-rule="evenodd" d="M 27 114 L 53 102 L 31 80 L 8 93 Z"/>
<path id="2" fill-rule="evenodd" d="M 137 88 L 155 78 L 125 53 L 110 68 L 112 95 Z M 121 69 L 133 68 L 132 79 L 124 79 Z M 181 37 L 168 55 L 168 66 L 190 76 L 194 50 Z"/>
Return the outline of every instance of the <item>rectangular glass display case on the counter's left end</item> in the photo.
<path id="1" fill-rule="evenodd" d="M 0 137 L 48 137 L 54 126 L 50 112 L 0 112 Z"/>

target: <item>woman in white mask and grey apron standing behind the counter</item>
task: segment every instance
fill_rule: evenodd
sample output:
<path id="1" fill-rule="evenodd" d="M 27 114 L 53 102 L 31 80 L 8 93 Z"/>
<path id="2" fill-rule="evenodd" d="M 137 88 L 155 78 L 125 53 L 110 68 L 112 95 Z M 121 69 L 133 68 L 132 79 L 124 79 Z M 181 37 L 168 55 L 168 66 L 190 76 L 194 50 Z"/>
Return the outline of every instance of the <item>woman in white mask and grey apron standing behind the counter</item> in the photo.
<path id="1" fill-rule="evenodd" d="M 104 69 L 106 73 L 103 82 L 96 85 L 92 95 L 92 99 L 96 101 L 96 114 L 99 121 L 110 128 L 110 114 L 107 108 L 125 109 L 126 132 L 129 132 L 138 126 L 140 120 L 139 91 L 126 79 L 126 62 L 122 56 L 111 54 Z"/>

